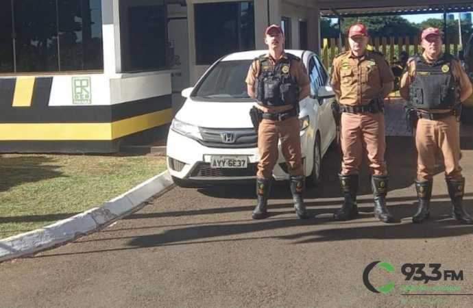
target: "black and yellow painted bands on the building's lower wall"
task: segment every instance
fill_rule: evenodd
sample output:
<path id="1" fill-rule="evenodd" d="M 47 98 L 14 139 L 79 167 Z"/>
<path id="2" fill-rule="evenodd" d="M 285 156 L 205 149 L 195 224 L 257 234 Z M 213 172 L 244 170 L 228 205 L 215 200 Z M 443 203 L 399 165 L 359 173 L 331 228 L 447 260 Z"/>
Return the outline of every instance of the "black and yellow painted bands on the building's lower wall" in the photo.
<path id="1" fill-rule="evenodd" d="M 116 105 L 50 106 L 53 77 L 0 79 L 0 152 L 110 153 L 164 136 L 171 94 Z"/>

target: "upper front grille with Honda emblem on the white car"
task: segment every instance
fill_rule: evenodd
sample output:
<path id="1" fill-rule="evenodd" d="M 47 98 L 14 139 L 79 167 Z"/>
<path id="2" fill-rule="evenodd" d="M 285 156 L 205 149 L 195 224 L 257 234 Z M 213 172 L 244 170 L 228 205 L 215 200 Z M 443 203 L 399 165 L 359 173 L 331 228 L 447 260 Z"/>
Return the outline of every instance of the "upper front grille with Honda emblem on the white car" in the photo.
<path id="1" fill-rule="evenodd" d="M 258 136 L 254 129 L 207 129 L 200 128 L 200 144 L 209 148 L 254 148 L 258 146 Z"/>

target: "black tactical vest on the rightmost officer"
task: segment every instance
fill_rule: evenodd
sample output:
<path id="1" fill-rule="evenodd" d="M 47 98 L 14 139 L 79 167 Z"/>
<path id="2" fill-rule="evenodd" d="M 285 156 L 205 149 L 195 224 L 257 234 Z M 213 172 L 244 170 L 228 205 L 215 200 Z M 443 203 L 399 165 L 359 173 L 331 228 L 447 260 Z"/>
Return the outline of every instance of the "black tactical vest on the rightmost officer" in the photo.
<path id="1" fill-rule="evenodd" d="M 409 96 L 415 108 L 456 109 L 460 104 L 459 84 L 452 73 L 453 56 L 444 53 L 436 62 L 428 64 L 416 55 L 415 77 L 409 86 Z"/>

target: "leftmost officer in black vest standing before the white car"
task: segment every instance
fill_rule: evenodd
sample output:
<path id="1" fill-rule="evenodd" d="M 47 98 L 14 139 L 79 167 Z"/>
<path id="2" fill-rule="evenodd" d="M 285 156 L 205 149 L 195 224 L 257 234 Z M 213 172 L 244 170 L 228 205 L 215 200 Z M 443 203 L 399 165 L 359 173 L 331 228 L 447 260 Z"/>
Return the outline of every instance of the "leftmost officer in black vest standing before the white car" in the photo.
<path id="1" fill-rule="evenodd" d="M 258 127 L 260 162 L 256 173 L 258 203 L 252 218 L 266 218 L 273 168 L 278 160 L 278 140 L 289 166 L 294 209 L 302 219 L 308 218 L 303 201 L 304 168 L 300 147 L 299 101 L 308 96 L 310 81 L 300 58 L 284 52 L 284 34 L 279 25 L 265 31 L 269 51 L 256 58 L 246 78 L 250 97 L 258 101 L 262 116 Z"/>

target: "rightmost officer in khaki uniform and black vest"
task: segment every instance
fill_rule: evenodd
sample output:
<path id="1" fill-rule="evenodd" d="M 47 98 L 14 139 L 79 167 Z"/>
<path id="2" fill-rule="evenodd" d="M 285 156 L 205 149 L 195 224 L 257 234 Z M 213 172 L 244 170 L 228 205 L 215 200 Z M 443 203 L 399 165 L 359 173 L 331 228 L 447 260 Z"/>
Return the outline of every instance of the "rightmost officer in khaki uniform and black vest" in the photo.
<path id="1" fill-rule="evenodd" d="M 453 203 L 453 216 L 473 224 L 473 217 L 463 209 L 465 178 L 461 175 L 458 111 L 462 101 L 472 94 L 472 84 L 460 62 L 442 53 L 439 29 L 422 31 L 422 55 L 409 59 L 400 83 L 401 96 L 410 101 L 417 116 L 415 146 L 417 179 L 415 188 L 419 207 L 412 220 L 421 223 L 430 216 L 430 196 L 435 154 L 444 155 L 448 194 Z"/>

